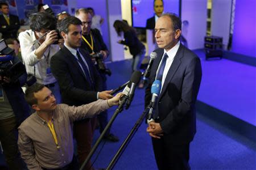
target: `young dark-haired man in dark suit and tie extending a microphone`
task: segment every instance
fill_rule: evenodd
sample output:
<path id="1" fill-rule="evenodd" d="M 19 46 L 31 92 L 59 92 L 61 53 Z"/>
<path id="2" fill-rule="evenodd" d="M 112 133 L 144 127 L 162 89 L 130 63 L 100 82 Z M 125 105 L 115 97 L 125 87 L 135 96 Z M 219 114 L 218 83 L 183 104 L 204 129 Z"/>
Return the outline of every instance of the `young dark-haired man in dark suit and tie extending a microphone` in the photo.
<path id="1" fill-rule="evenodd" d="M 64 46 L 51 59 L 51 70 L 60 85 L 63 103 L 68 105 L 88 104 L 97 99 L 110 99 L 111 91 L 101 91 L 101 78 L 93 65 L 89 53 L 81 46 L 81 21 L 68 16 L 57 25 Z M 92 146 L 95 118 L 75 122 L 74 135 L 80 165 L 88 156 Z M 88 163 L 85 169 L 92 169 Z"/>

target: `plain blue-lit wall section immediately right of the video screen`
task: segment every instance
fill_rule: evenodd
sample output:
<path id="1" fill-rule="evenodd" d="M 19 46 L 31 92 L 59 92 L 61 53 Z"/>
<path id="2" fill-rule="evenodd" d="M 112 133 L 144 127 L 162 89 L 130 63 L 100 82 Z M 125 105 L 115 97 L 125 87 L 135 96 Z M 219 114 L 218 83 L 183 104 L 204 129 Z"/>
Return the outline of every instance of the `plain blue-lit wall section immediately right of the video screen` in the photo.
<path id="1" fill-rule="evenodd" d="M 181 20 L 188 20 L 187 41 L 189 49 L 204 48 L 207 31 L 207 1 L 182 0 Z"/>

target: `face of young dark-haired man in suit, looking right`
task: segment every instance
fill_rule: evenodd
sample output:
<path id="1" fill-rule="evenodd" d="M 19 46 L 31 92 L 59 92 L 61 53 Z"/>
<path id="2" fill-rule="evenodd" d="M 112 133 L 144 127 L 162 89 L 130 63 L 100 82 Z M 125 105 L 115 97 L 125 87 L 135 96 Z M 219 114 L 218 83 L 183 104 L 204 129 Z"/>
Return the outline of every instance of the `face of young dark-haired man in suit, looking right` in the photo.
<path id="1" fill-rule="evenodd" d="M 65 43 L 71 48 L 79 48 L 81 46 L 82 35 L 81 25 L 70 24 L 68 33 L 61 32 Z"/>

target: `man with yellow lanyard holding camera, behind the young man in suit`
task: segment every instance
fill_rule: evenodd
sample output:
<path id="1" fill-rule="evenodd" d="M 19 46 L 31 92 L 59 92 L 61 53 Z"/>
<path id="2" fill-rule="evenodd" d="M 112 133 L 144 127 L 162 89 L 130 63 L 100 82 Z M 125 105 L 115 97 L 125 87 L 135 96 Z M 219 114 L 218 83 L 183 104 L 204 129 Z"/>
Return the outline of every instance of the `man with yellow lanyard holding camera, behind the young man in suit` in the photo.
<path id="1" fill-rule="evenodd" d="M 85 49 L 93 59 L 96 59 L 96 68 L 100 73 L 102 79 L 102 89 L 106 90 L 106 74 L 111 74 L 110 70 L 107 70 L 104 65 L 104 61 L 100 59 L 106 59 L 109 55 L 108 48 L 104 43 L 100 31 L 98 29 L 91 29 L 90 26 L 92 24 L 92 16 L 90 12 L 86 8 L 80 8 L 76 10 L 76 17 L 79 18 L 82 22 L 82 43 L 81 48 Z M 103 68 L 102 68 L 103 67 Z M 108 124 L 108 114 L 102 112 L 97 116 L 98 122 L 100 124 L 100 133 L 105 129 Z M 118 137 L 110 133 L 110 129 L 107 131 L 105 135 L 105 139 L 117 142 L 119 141 Z"/>

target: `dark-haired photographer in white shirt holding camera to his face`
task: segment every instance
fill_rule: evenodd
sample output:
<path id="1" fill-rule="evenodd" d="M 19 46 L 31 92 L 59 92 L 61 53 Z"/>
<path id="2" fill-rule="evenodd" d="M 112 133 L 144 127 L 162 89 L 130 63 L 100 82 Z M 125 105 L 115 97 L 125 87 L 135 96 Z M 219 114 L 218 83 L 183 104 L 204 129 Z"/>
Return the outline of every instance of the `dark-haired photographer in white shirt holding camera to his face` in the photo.
<path id="1" fill-rule="evenodd" d="M 61 103 L 59 84 L 51 73 L 50 61 L 60 49 L 56 19 L 46 12 L 30 16 L 30 30 L 19 34 L 20 49 L 27 73 L 35 75 L 38 83 L 48 87 Z"/>

